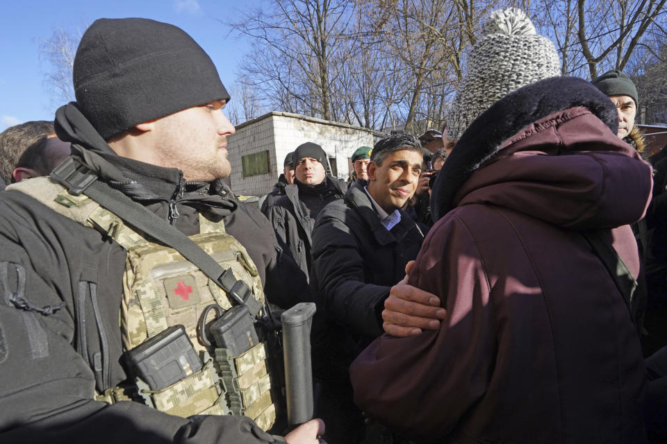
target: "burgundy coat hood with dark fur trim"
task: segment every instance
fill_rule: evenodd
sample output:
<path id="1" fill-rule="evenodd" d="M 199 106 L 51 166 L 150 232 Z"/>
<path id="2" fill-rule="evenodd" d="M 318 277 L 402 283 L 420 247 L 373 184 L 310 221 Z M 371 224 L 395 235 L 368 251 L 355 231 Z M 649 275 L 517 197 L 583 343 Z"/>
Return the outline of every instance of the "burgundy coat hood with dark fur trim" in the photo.
<path id="1" fill-rule="evenodd" d="M 434 215 L 488 203 L 573 228 L 639 220 L 651 170 L 616 137 L 617 127 L 614 104 L 584 80 L 554 77 L 522 87 L 456 143 L 434 185 Z"/>

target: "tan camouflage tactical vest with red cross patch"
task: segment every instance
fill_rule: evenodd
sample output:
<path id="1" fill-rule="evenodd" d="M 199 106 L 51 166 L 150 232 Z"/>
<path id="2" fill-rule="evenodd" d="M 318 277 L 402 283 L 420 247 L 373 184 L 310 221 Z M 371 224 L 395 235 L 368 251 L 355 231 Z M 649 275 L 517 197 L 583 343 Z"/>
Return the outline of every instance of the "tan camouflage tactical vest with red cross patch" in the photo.
<path id="1" fill-rule="evenodd" d="M 242 414 L 267 430 L 276 418 L 267 350 L 258 343 L 238 356 L 227 349 L 201 345 L 197 323 L 202 311 L 216 303 L 231 308 L 231 300 L 199 268 L 173 248 L 149 241 L 122 219 L 85 195 L 69 194 L 50 178 L 35 178 L 13 184 L 47 207 L 82 225 L 108 235 L 126 250 L 123 276 L 121 328 L 124 350 L 132 350 L 170 325 L 186 328 L 204 366 L 199 372 L 162 391 L 151 391 L 137 379 L 97 394 L 98 400 L 115 402 L 138 398 L 151 407 L 177 416 L 197 414 Z M 190 236 L 223 268 L 231 268 L 258 302 L 265 303 L 256 266 L 245 248 L 224 231 L 224 223 L 213 222 L 200 213 L 199 234 Z M 127 395 L 128 386 L 131 398 Z"/>

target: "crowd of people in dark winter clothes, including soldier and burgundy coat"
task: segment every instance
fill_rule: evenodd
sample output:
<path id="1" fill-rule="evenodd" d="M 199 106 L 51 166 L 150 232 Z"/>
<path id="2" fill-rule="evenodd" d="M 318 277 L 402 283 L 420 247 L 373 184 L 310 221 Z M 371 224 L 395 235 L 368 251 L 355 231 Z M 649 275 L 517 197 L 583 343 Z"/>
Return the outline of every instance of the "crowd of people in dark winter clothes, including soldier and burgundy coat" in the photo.
<path id="1" fill-rule="evenodd" d="M 667 151 L 623 72 L 560 71 L 495 11 L 442 131 L 359 147 L 347 182 L 304 141 L 256 205 L 208 55 L 95 21 L 76 101 L 0 134 L 0 441 L 667 442 Z"/>

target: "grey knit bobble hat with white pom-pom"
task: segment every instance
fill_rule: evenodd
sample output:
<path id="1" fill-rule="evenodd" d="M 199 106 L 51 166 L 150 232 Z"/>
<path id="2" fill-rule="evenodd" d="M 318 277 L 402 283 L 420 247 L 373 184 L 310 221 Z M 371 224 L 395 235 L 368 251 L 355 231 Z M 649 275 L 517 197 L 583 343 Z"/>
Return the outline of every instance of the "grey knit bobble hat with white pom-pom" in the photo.
<path id="1" fill-rule="evenodd" d="M 445 116 L 447 139 L 458 140 L 472 121 L 510 92 L 558 76 L 560 69 L 554 44 L 535 32 L 525 12 L 492 12 L 468 53 L 468 71 Z"/>

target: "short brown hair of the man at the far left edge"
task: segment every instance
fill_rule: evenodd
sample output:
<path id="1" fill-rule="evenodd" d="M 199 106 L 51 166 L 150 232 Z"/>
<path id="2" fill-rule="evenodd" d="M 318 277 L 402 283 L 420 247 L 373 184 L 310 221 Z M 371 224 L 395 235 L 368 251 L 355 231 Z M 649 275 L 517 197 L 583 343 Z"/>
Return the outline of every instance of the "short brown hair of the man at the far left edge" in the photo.
<path id="1" fill-rule="evenodd" d="M 42 137 L 53 134 L 53 122 L 35 120 L 10 126 L 0 133 L 0 177 L 5 183 L 13 182 L 14 169 L 29 146 Z"/>

